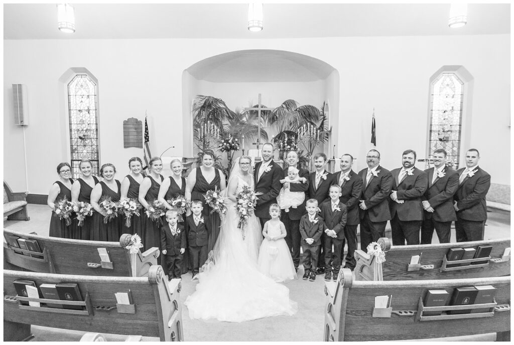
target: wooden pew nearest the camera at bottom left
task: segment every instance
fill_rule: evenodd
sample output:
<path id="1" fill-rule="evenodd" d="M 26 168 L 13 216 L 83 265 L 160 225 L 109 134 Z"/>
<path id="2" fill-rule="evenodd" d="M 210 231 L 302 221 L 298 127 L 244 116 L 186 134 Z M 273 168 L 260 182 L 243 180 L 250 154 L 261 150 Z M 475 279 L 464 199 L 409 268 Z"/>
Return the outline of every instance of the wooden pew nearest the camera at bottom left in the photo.
<path id="1" fill-rule="evenodd" d="M 84 302 L 31 299 L 16 296 L 13 281 L 77 283 Z M 151 266 L 148 277 L 95 277 L 4 270 L 4 341 L 30 337 L 27 325 L 159 337 L 182 341 L 180 279 L 167 281 L 161 266 Z M 130 292 L 132 305 L 117 304 L 115 293 Z M 21 305 L 20 301 L 54 304 L 80 303 L 84 310 Z"/>

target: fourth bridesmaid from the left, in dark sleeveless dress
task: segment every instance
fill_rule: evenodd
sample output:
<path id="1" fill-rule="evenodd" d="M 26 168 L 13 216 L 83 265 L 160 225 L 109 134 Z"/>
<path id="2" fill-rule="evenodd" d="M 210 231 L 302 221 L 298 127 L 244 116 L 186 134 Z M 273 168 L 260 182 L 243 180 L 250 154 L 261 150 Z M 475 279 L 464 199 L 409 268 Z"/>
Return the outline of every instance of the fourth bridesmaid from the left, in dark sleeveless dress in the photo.
<path id="1" fill-rule="evenodd" d="M 132 157 L 128 160 L 128 168 L 130 168 L 130 174 L 126 175 L 121 182 L 121 199 L 124 200 L 126 198 L 131 198 L 137 200 L 139 198 L 139 185 L 143 181 L 143 162 L 139 157 Z M 141 229 L 141 213 L 143 210 L 139 209 L 139 216 L 132 215 L 131 225 L 127 227 L 125 225 L 125 215 L 120 214 L 121 217 L 121 228 L 122 233 L 137 233 L 142 239 L 142 229 Z"/>

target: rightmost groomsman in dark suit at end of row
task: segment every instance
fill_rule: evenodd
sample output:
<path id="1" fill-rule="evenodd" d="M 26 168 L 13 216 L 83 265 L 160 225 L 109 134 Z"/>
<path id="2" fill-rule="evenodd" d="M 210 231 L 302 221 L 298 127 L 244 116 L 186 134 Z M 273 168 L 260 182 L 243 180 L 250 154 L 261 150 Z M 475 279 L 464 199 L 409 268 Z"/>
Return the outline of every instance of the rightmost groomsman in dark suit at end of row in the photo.
<path id="1" fill-rule="evenodd" d="M 482 241 L 487 220 L 485 196 L 491 186 L 491 175 L 479 167 L 480 153 L 466 152 L 466 168 L 457 170 L 459 185 L 453 196 L 457 212 L 455 233 L 457 242 Z"/>

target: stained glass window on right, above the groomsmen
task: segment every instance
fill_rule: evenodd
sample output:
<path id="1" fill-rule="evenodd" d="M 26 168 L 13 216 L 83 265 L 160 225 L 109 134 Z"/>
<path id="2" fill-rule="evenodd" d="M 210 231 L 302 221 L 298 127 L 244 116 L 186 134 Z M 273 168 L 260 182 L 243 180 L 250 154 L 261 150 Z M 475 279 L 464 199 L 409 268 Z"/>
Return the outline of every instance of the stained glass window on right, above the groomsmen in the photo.
<path id="1" fill-rule="evenodd" d="M 446 150 L 447 160 L 458 168 L 461 149 L 463 82 L 451 72 L 443 73 L 432 84 L 430 104 L 429 154 Z"/>

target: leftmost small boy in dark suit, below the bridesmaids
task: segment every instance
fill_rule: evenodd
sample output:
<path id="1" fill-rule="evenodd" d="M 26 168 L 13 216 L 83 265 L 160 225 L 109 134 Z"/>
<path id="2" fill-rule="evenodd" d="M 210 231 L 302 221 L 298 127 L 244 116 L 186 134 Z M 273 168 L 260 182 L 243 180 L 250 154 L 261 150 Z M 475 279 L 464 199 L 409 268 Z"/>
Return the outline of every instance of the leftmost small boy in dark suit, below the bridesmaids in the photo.
<path id="1" fill-rule="evenodd" d="M 180 278 L 182 254 L 186 251 L 186 232 L 177 223 L 178 213 L 175 210 L 166 212 L 168 224 L 161 227 L 161 251 L 166 256 L 168 280 Z"/>

